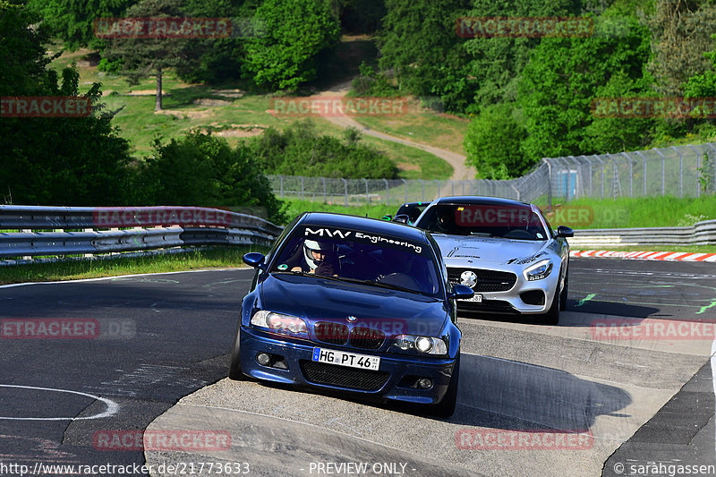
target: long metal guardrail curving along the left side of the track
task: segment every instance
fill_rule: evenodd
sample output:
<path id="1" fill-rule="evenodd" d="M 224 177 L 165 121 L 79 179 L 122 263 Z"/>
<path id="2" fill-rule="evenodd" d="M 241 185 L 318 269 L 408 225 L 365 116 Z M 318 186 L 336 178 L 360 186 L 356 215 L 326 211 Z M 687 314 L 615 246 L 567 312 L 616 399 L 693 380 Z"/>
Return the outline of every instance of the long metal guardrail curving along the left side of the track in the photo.
<path id="1" fill-rule="evenodd" d="M 0 258 L 270 245 L 282 230 L 260 217 L 199 207 L 0 206 L 0 230 L 13 229 L 19 232 L 0 233 Z"/>

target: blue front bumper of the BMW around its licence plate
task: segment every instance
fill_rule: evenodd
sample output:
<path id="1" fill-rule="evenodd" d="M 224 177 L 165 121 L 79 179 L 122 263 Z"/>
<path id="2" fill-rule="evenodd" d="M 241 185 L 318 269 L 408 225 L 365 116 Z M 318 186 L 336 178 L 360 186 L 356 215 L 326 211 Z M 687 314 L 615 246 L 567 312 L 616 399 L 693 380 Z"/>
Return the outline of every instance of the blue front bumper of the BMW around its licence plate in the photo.
<path id="1" fill-rule="evenodd" d="M 336 349 L 348 353 L 379 356 L 379 371 L 358 370 L 336 364 L 313 362 L 313 348 Z M 287 341 L 256 328 L 242 326 L 240 330 L 241 369 L 255 379 L 264 379 L 303 388 L 322 388 L 377 400 L 396 400 L 409 403 L 438 404 L 452 377 L 455 358 L 422 358 L 393 353 L 371 353 L 368 350 L 314 344 L 310 341 Z M 259 353 L 281 357 L 264 366 L 257 362 Z M 277 367 L 280 363 L 280 367 Z M 286 367 L 286 369 L 282 369 Z M 413 377 L 415 379 L 413 379 Z M 428 378 L 432 388 L 412 388 L 417 378 Z M 321 382 L 322 381 L 322 382 Z"/>

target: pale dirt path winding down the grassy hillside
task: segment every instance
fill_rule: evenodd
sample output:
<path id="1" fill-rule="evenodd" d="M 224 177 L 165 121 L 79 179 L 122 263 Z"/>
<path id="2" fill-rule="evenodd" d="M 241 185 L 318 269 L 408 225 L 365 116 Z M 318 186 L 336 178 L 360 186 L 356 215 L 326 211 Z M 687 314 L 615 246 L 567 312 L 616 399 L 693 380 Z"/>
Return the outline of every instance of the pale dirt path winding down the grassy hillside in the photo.
<path id="1" fill-rule="evenodd" d="M 330 89 L 321 91 L 316 96 L 342 97 L 345 96 L 345 94 L 350 88 L 351 81 L 344 81 L 338 83 Z M 348 115 L 323 115 L 322 117 L 324 117 L 333 124 L 337 124 L 338 126 L 344 128 L 354 127 L 363 134 L 367 134 L 369 136 L 373 136 L 385 141 L 397 142 L 399 144 L 404 144 L 405 146 L 410 146 L 412 148 L 422 149 L 426 152 L 430 152 L 430 154 L 434 156 L 445 159 L 450 166 L 453 166 L 453 175 L 450 176 L 450 179 L 452 180 L 459 181 L 463 179 L 473 179 L 475 176 L 474 168 L 465 165 L 465 156 L 463 156 L 462 154 L 457 154 L 456 152 L 452 152 L 446 149 L 435 148 L 427 144 L 421 144 L 420 142 L 413 142 L 402 138 L 396 138 L 395 136 L 391 136 L 384 132 L 373 131 L 371 130 L 371 128 L 358 123 Z"/>

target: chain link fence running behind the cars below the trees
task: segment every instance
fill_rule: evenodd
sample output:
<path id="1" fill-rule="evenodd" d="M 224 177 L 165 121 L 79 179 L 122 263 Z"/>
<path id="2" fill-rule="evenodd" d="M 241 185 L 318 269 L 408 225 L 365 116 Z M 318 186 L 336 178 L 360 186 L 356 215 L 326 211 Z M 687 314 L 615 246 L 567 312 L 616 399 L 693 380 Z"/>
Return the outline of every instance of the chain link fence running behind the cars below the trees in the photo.
<path id="1" fill-rule="evenodd" d="M 671 195 L 698 197 L 716 192 L 716 144 L 675 146 L 617 154 L 544 158 L 516 179 L 422 180 L 344 179 L 268 175 L 285 199 L 342 205 L 429 201 L 454 195 L 482 195 L 548 203 L 580 197 Z"/>

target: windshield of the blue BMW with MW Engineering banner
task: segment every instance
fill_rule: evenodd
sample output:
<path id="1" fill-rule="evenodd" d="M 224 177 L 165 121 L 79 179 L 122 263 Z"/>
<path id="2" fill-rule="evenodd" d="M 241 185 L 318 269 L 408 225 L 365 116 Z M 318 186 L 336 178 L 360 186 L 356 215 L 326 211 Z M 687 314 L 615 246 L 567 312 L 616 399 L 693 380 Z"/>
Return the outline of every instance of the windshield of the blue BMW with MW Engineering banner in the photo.
<path id="1" fill-rule="evenodd" d="M 320 226 L 294 230 L 269 272 L 330 277 L 436 297 L 442 290 L 428 244 Z"/>

